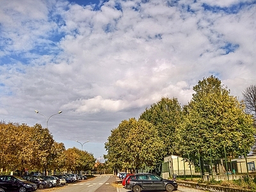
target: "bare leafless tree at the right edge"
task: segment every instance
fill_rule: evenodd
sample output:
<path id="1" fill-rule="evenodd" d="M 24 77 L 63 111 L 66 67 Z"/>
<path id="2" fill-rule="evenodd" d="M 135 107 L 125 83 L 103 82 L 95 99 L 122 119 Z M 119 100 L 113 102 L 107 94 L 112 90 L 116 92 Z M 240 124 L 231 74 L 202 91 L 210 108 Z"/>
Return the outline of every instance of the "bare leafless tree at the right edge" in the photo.
<path id="1" fill-rule="evenodd" d="M 250 85 L 243 92 L 246 111 L 256 119 L 256 85 Z"/>

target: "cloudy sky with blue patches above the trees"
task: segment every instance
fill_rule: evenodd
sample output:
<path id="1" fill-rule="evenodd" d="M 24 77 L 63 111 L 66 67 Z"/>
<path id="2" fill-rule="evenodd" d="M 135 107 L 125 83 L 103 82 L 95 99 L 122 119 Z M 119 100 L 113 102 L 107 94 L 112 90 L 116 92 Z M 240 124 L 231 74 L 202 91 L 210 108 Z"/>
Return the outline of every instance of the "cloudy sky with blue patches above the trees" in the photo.
<path id="1" fill-rule="evenodd" d="M 211 75 L 239 100 L 255 84 L 256 0 L 0 2 L 0 119 L 48 121 L 97 159 L 161 97 L 188 104 Z"/>

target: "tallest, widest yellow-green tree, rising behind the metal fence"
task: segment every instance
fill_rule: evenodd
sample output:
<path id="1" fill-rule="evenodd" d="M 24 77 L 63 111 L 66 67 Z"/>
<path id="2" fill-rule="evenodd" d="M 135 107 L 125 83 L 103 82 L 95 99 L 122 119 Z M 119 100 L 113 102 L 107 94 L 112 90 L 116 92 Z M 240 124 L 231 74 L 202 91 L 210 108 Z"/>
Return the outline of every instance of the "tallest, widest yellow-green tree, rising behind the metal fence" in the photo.
<path id="1" fill-rule="evenodd" d="M 253 146 L 255 130 L 251 115 L 244 113 L 244 105 L 213 76 L 198 81 L 195 93 L 184 106 L 184 120 L 180 129 L 182 154 L 192 159 L 201 157 L 237 157 Z"/>

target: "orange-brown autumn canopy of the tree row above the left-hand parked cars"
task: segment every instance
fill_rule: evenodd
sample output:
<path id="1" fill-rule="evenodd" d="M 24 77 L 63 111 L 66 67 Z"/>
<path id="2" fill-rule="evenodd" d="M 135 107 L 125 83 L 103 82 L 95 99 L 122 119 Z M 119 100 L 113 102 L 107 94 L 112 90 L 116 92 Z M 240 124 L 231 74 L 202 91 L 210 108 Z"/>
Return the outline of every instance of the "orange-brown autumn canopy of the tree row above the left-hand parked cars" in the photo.
<path id="1" fill-rule="evenodd" d="M 94 167 L 93 154 L 78 148 L 66 150 L 64 144 L 54 141 L 49 129 L 40 124 L 29 127 L 1 121 L 0 132 L 0 167 L 3 170 L 61 172 L 92 170 Z M 75 166 L 69 165 L 70 159 L 74 160 Z"/>

